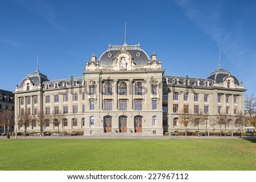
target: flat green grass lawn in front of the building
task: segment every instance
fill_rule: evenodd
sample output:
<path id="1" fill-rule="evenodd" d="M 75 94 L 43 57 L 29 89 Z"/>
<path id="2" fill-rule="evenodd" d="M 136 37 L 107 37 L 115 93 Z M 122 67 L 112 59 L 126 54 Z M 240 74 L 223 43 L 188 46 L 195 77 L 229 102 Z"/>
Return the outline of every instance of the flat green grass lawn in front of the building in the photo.
<path id="1" fill-rule="evenodd" d="M 0 139 L 0 170 L 255 170 L 256 140 Z"/>

